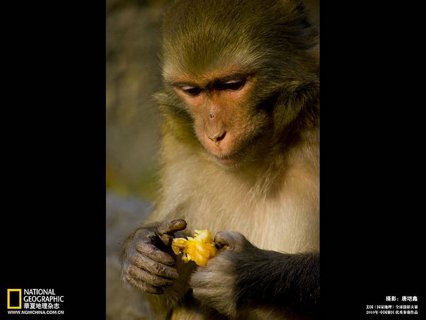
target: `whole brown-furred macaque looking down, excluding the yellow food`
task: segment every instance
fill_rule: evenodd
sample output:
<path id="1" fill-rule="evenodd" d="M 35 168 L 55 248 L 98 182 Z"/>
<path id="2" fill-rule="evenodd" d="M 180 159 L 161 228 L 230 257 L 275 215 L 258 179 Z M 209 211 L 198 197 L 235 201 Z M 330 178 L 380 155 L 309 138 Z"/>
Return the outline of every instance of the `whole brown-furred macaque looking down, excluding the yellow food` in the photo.
<path id="1" fill-rule="evenodd" d="M 295 0 L 177 1 L 162 31 L 162 188 L 124 280 L 159 318 L 318 316 L 317 31 Z M 170 249 L 194 229 L 203 267 Z"/>

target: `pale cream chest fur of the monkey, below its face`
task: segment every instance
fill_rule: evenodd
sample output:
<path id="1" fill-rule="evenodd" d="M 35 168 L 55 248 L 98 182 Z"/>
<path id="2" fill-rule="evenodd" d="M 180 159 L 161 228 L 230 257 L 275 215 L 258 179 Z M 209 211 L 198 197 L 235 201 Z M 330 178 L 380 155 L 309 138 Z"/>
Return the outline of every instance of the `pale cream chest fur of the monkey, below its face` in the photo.
<path id="1" fill-rule="evenodd" d="M 185 219 L 188 235 L 194 229 L 237 231 L 261 249 L 319 250 L 319 183 L 312 164 L 294 161 L 278 177 L 250 176 L 222 170 L 184 147 L 166 163 L 172 165 L 163 168 L 158 220 Z"/>

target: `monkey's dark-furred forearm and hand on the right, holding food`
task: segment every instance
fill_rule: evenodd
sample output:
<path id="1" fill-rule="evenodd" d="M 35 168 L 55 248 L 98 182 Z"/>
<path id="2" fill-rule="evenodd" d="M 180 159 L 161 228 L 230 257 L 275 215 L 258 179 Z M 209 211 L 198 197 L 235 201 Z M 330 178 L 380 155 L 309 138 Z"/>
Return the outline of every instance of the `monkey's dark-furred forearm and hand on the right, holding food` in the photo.
<path id="1" fill-rule="evenodd" d="M 227 250 L 191 278 L 201 302 L 230 315 L 263 306 L 319 313 L 319 253 L 262 250 L 235 232 L 220 232 L 215 242 Z"/>

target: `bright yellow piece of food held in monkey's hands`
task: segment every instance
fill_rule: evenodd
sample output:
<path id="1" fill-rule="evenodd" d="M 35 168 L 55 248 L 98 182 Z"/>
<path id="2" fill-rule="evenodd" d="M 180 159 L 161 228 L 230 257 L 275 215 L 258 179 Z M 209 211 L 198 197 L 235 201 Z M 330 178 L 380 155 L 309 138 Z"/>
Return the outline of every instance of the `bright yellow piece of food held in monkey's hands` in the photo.
<path id="1" fill-rule="evenodd" d="M 195 230 L 194 237 L 175 238 L 171 248 L 175 254 L 182 253 L 182 260 L 186 263 L 195 261 L 199 266 L 203 266 L 207 261 L 216 255 L 216 247 L 211 233 L 208 230 Z"/>

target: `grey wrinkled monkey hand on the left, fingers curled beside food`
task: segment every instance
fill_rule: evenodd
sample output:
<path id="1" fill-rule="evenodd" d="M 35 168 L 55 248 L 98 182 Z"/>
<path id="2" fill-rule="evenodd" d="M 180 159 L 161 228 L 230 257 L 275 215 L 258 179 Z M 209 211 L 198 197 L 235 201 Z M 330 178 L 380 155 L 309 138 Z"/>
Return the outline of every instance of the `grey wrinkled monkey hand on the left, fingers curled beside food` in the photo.
<path id="1" fill-rule="evenodd" d="M 184 220 L 150 224 L 133 231 L 123 242 L 120 262 L 123 279 L 154 294 L 164 293 L 178 278 L 171 253 L 173 234 L 186 228 Z"/>

